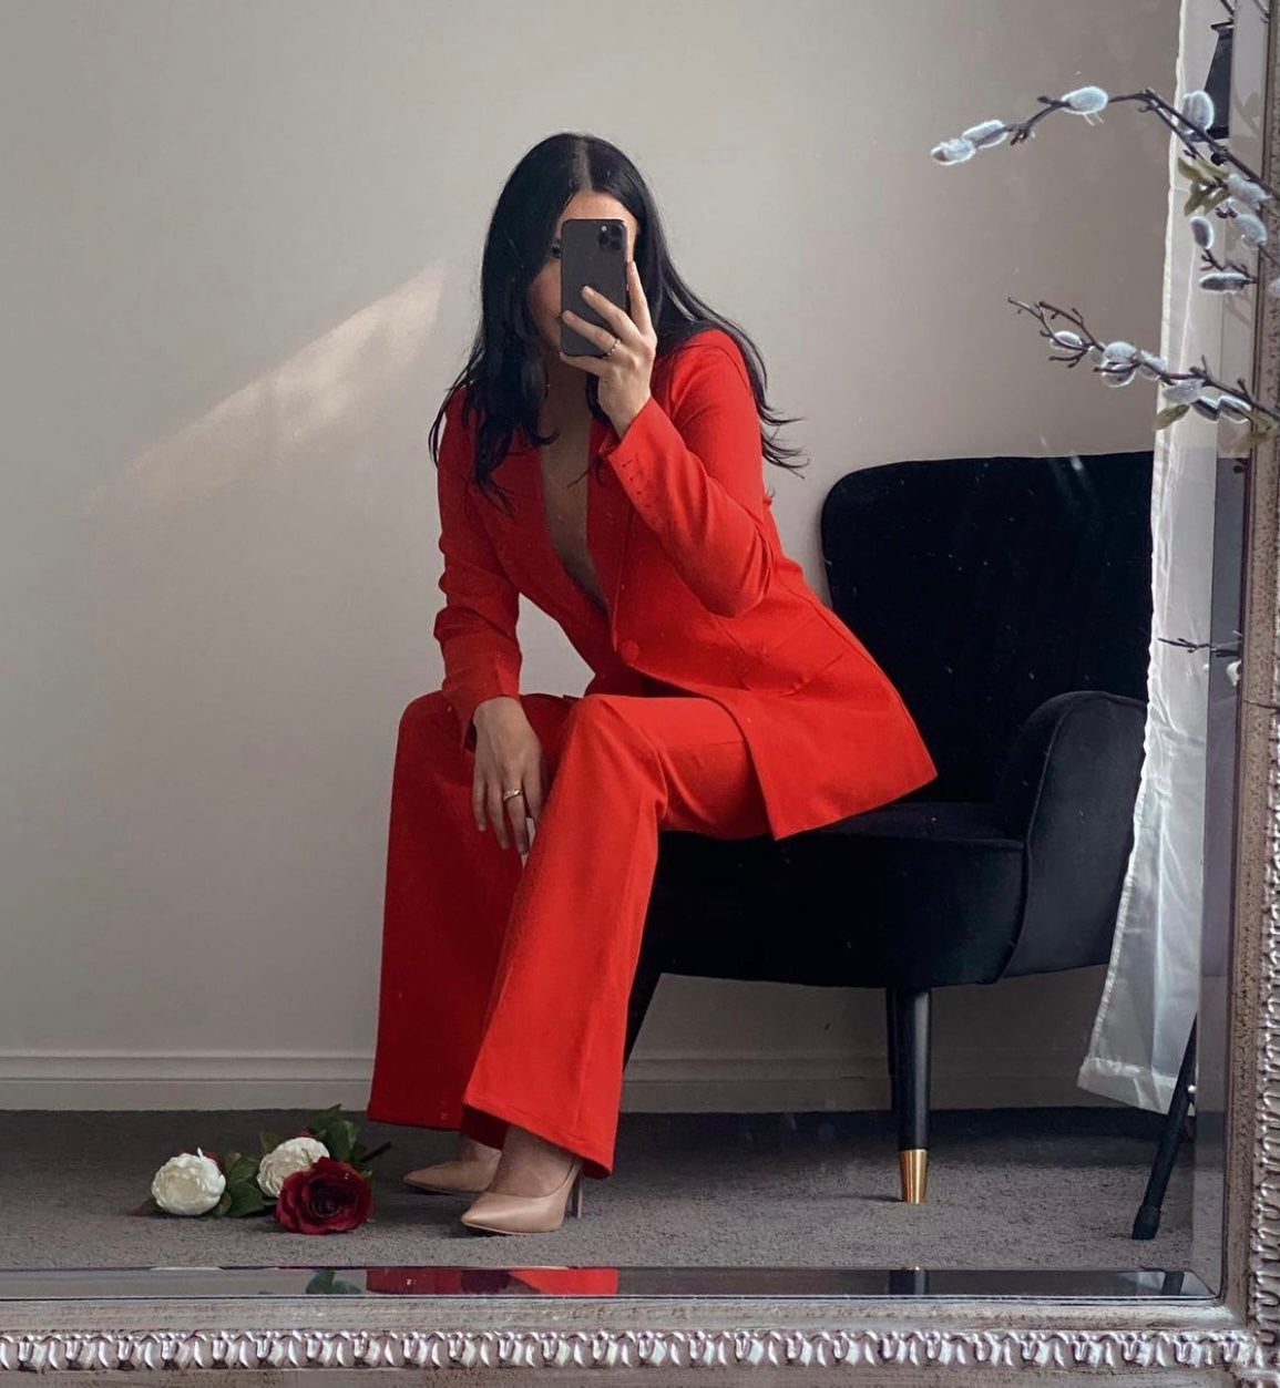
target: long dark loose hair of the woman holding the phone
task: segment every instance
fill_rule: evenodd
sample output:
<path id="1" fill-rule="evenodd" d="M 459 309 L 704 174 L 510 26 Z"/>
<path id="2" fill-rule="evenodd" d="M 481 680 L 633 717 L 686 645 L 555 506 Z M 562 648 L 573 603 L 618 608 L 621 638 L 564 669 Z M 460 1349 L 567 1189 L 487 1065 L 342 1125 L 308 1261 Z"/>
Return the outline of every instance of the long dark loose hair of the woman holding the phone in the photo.
<path id="1" fill-rule="evenodd" d="M 743 353 L 762 425 L 777 429 L 802 418 L 769 409 L 765 403 L 768 373 L 755 343 L 734 322 L 708 308 L 676 272 L 657 204 L 636 165 L 622 150 L 598 136 L 569 130 L 548 135 L 516 164 L 498 194 L 485 237 L 480 326 L 466 365 L 446 393 L 428 436 L 432 461 L 439 465 L 444 408 L 454 390 L 464 386 L 464 421 L 476 414 L 480 418 L 475 480 L 490 494 L 490 500 L 501 497 L 508 512 L 508 493 L 491 473 L 507 457 L 516 430 L 536 447 L 557 437 L 554 433 L 543 437 L 537 432 L 547 373 L 526 293 L 546 262 L 561 212 L 580 192 L 607 193 L 636 218 L 636 266 L 658 335 L 658 357 L 696 333 L 719 328 L 734 339 Z M 607 422 L 608 416 L 597 398 L 597 378 L 591 372 L 583 372 L 583 376 L 591 414 Z M 795 472 L 804 466 L 786 461 L 798 454 L 798 448 L 779 446 L 764 428 L 761 450 L 779 468 Z"/>

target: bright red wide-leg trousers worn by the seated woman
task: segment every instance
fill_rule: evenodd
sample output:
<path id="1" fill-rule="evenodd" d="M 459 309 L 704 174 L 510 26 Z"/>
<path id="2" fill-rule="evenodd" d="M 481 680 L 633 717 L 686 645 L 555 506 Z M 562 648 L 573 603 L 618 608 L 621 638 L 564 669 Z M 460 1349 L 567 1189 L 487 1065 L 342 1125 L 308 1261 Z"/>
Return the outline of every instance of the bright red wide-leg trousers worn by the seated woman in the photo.
<path id="1" fill-rule="evenodd" d="M 443 694 L 401 718 L 367 1112 L 490 1146 L 515 1123 L 601 1177 L 658 830 L 744 838 L 768 820 L 741 731 L 714 700 L 521 702 L 550 772 L 523 865 L 476 829 L 475 754 Z"/>

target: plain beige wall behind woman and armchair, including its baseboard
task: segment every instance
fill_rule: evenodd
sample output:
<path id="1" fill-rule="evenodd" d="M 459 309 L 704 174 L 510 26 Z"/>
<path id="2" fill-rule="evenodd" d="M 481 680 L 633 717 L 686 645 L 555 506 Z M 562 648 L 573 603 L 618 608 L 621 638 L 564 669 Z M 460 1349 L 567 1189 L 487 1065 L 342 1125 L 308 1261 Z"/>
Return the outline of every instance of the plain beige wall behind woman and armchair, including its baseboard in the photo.
<path id="1" fill-rule="evenodd" d="M 367 1094 L 396 722 L 439 686 L 425 429 L 498 187 L 621 143 L 743 322 L 770 469 L 1150 444 L 1151 383 L 1007 296 L 1159 335 L 1165 139 L 1116 108 L 938 168 L 1041 92 L 1169 90 L 1172 0 L 8 0 L 0 1106 Z M 526 688 L 586 670 L 536 611 Z M 1090 1102 L 1101 970 L 937 999 L 937 1102 Z M 628 1102 L 880 1103 L 875 994 L 666 980 Z"/>

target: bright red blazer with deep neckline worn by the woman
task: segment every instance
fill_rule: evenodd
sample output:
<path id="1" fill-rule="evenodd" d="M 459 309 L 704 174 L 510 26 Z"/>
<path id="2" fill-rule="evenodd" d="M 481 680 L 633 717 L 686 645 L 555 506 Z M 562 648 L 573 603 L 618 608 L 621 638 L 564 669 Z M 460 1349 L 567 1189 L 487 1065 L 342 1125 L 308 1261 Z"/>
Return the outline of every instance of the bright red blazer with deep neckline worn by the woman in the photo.
<path id="1" fill-rule="evenodd" d="M 446 605 L 435 636 L 464 745 L 476 704 L 519 697 L 525 594 L 594 672 L 584 693 L 640 693 L 639 672 L 723 705 L 776 838 L 933 780 L 897 690 L 782 551 L 737 343 L 721 329 L 698 333 L 654 362 L 650 391 L 622 440 L 591 422 L 587 457 L 605 468 L 583 483 L 587 547 L 608 622 L 551 545 L 537 450 L 514 446 L 494 473 L 511 494 L 508 516 L 471 482 L 462 387 L 450 397 L 437 469 Z"/>

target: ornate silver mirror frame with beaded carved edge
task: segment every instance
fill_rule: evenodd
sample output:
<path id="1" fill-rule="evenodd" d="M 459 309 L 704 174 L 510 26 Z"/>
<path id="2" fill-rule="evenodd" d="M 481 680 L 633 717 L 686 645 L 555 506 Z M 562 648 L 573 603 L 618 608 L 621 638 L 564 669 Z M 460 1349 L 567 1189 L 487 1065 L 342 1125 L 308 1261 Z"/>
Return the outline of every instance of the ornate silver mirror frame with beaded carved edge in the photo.
<path id="1" fill-rule="evenodd" d="M 1262 167 L 1280 182 L 1276 29 L 1268 25 Z M 1255 379 L 1280 396 L 1280 298 L 1258 297 Z M 1204 1301 L 1007 1296 L 10 1301 L 0 1370 L 85 1382 L 119 1370 L 408 1370 L 468 1384 L 662 1384 L 711 1370 L 747 1384 L 1227 1381 L 1280 1388 L 1280 457 L 1251 465 L 1240 691 L 1222 1295 Z M 716 1370 L 719 1371 L 716 1374 Z"/>

